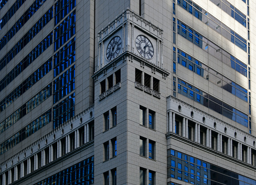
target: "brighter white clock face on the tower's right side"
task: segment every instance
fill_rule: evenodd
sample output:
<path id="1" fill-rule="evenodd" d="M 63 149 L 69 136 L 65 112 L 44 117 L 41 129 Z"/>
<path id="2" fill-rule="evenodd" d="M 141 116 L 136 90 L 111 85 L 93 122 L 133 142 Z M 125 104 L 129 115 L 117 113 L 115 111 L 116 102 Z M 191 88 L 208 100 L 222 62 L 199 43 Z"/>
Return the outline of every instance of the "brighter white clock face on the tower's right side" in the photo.
<path id="1" fill-rule="evenodd" d="M 154 48 L 150 40 L 143 35 L 140 35 L 136 38 L 135 41 L 136 48 L 138 52 L 145 58 L 145 59 L 152 59 L 154 55 Z"/>

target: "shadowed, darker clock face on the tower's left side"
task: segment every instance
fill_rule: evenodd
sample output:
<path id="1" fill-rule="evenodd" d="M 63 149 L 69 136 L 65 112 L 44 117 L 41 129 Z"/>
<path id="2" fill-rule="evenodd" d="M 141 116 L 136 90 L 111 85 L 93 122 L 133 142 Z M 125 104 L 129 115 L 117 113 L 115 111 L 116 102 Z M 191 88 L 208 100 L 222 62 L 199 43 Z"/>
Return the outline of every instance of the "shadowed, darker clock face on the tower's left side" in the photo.
<path id="1" fill-rule="evenodd" d="M 119 36 L 115 36 L 109 42 L 108 48 L 106 48 L 106 60 L 112 61 L 121 50 L 122 40 Z"/>

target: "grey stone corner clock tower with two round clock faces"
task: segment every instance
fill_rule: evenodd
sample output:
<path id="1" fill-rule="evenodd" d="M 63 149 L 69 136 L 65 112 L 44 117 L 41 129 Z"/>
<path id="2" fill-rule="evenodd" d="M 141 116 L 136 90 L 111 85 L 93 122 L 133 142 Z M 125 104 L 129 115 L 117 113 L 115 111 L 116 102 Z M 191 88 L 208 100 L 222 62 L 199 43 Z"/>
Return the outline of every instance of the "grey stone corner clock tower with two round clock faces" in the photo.
<path id="1" fill-rule="evenodd" d="M 98 33 L 92 76 L 94 106 L 99 108 L 94 113 L 94 166 L 101 169 L 94 174 L 97 184 L 112 183 L 114 177 L 117 184 L 137 184 L 140 174 L 164 177 L 159 184 L 167 178 L 155 168 L 167 158 L 156 154 L 158 147 L 166 147 L 162 115 L 169 73 L 163 68 L 162 35 L 162 29 L 129 9 Z M 122 174 L 122 169 L 132 174 Z"/>

